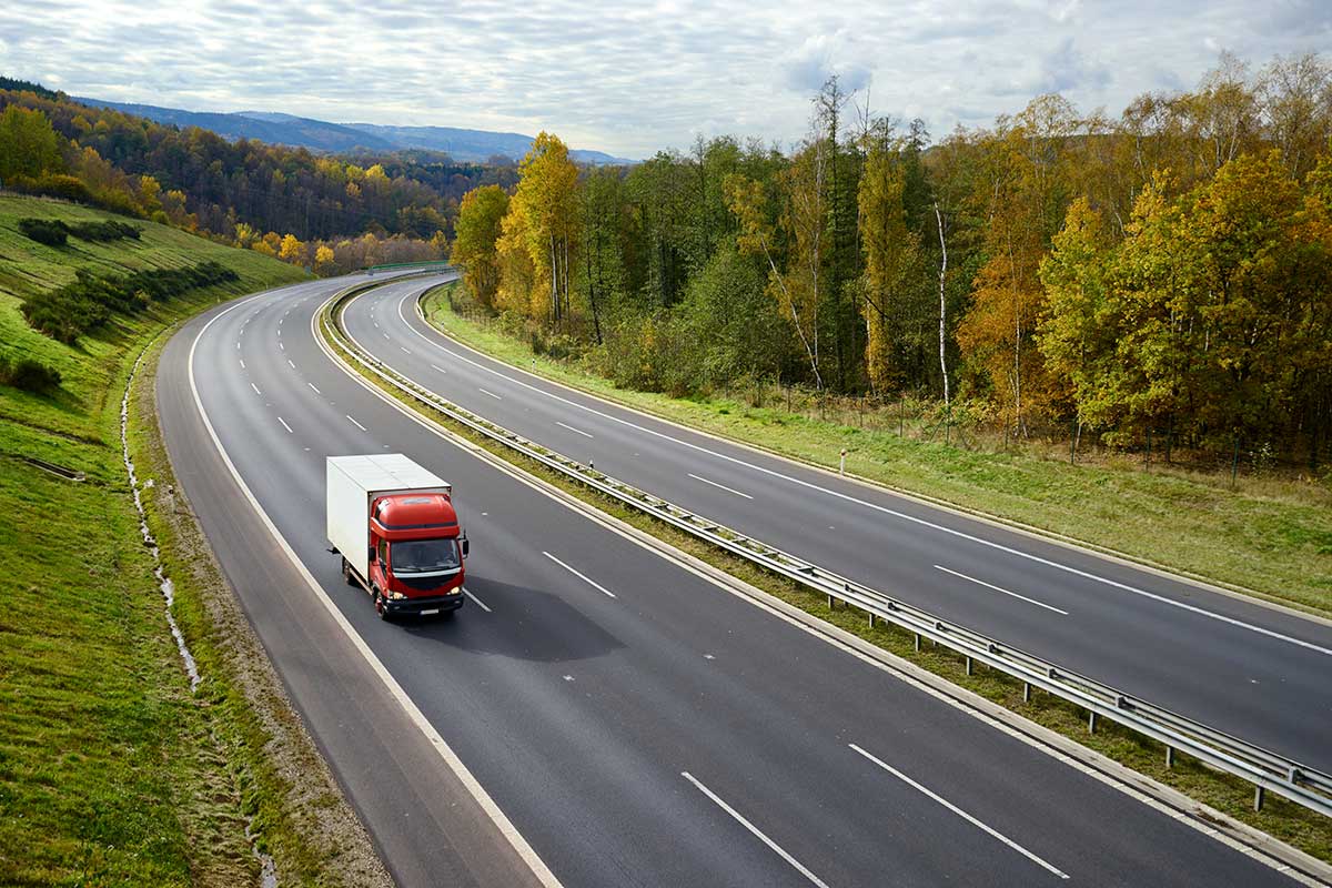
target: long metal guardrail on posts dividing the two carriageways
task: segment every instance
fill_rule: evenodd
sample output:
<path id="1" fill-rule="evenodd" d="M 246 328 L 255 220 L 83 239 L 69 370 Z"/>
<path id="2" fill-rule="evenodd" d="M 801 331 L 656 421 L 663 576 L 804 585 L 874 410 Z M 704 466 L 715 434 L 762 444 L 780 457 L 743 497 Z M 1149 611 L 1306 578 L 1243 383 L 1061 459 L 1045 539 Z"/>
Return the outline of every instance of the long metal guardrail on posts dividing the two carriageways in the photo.
<path id="1" fill-rule="evenodd" d="M 1083 707 L 1088 711 L 1088 730 L 1091 731 L 1095 731 L 1098 718 L 1107 718 L 1164 744 L 1167 764 L 1173 763 L 1175 752 L 1179 751 L 1217 771 L 1239 776 L 1255 787 L 1255 809 L 1261 809 L 1264 792 L 1272 791 L 1305 808 L 1332 817 L 1332 775 L 1305 767 L 1142 698 L 1124 694 L 1108 684 L 1066 670 L 1056 663 L 958 623 L 943 620 L 915 604 L 839 576 L 818 564 L 767 546 L 718 522 L 709 521 L 659 497 L 617 481 L 597 471 L 591 465 L 570 459 L 441 398 L 388 367 L 342 333 L 340 306 L 354 294 L 352 292 L 333 297 L 321 309 L 320 328 L 361 366 L 428 407 L 438 410 L 473 431 L 535 459 L 562 475 L 574 478 L 613 499 L 647 513 L 774 574 L 814 588 L 827 595 L 830 606 L 834 602 L 852 604 L 868 614 L 871 624 L 882 619 L 899 626 L 914 634 L 916 650 L 920 647 L 922 638 L 950 647 L 966 658 L 968 675 L 972 660 L 978 660 L 1023 682 L 1023 699 L 1028 699 L 1031 688 L 1036 687 Z"/>

